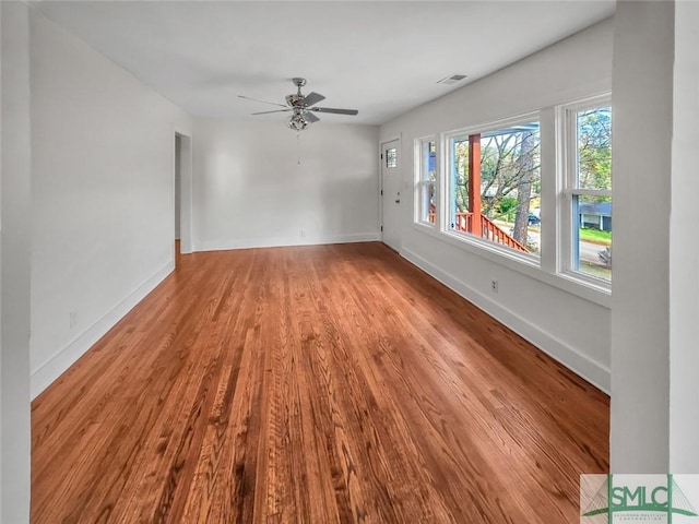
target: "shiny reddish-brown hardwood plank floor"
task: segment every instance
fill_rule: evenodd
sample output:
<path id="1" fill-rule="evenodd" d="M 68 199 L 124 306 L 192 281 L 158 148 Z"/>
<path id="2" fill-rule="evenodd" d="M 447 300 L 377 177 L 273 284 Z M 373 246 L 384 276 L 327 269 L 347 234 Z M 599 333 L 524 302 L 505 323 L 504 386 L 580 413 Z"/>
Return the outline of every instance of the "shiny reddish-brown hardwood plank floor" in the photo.
<path id="1" fill-rule="evenodd" d="M 578 523 L 608 418 L 380 243 L 194 253 L 34 401 L 32 522 Z"/>

